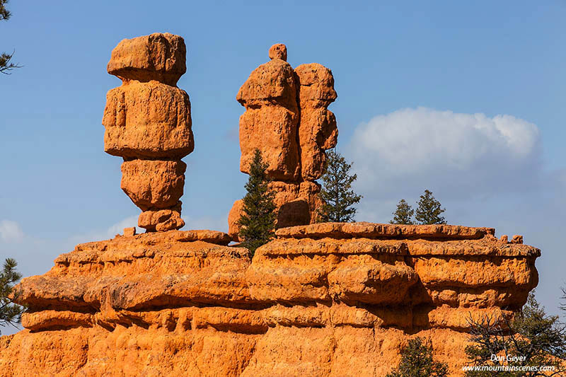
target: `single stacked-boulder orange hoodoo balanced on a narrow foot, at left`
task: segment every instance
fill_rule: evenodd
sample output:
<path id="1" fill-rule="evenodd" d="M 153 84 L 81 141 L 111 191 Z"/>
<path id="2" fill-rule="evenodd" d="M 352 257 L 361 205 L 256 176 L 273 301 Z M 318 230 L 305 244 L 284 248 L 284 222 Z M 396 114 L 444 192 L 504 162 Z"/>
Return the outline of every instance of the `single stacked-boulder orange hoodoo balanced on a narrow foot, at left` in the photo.
<path id="1" fill-rule="evenodd" d="M 186 71 L 185 41 L 172 34 L 122 40 L 108 73 L 122 86 L 106 95 L 104 150 L 124 158 L 122 190 L 142 211 L 146 231 L 185 225 L 180 217 L 186 165 L 195 148 L 190 100 L 176 84 Z"/>

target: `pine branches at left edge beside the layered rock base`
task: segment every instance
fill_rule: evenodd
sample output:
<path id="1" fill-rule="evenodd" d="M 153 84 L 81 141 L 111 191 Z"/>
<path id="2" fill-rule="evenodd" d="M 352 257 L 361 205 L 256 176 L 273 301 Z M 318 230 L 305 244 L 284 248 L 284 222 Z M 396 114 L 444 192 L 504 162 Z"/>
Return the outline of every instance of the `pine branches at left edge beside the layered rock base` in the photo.
<path id="1" fill-rule="evenodd" d="M 22 277 L 19 272 L 16 272 L 17 265 L 16 260 L 8 258 L 0 272 L 0 326 L 15 326 L 17 323 L 20 323 L 24 310 L 22 306 L 14 303 L 19 296 L 19 292 L 13 286 Z"/>

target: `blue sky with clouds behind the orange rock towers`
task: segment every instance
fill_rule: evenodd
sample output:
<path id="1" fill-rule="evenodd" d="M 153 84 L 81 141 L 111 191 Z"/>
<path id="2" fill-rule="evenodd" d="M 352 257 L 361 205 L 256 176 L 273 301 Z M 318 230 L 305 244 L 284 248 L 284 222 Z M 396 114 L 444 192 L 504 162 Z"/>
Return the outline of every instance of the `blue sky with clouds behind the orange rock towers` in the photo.
<path id="1" fill-rule="evenodd" d="M 332 69 L 338 150 L 354 161 L 359 221 L 387 222 L 425 188 L 450 224 L 522 234 L 543 250 L 556 313 L 566 253 L 566 1 L 11 1 L 0 51 L 0 260 L 42 274 L 74 244 L 133 226 L 120 158 L 103 152 L 106 73 L 123 38 L 187 44 L 192 103 L 185 228 L 226 231 L 239 172 L 236 93 L 275 42 Z M 5 333 L 5 332 L 4 332 Z"/>

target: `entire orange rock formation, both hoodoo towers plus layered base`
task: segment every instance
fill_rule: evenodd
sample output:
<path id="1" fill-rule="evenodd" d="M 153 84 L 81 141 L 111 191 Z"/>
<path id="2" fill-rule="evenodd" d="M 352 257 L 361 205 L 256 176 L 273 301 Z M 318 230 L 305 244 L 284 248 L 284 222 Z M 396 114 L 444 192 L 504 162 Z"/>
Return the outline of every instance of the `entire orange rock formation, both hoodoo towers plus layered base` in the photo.
<path id="1" fill-rule="evenodd" d="M 461 376 L 468 318 L 521 308 L 540 250 L 493 228 L 308 224 L 324 150 L 335 145 L 330 70 L 291 69 L 287 49 L 238 93 L 241 168 L 260 148 L 279 206 L 305 225 L 255 251 L 218 231 L 179 231 L 193 148 L 181 37 L 124 40 L 108 71 L 105 150 L 124 158 L 122 189 L 143 211 L 112 240 L 76 245 L 22 280 L 24 330 L 0 337 L 0 376 L 386 376 L 413 337 Z M 284 213 L 284 212 L 279 212 Z"/>

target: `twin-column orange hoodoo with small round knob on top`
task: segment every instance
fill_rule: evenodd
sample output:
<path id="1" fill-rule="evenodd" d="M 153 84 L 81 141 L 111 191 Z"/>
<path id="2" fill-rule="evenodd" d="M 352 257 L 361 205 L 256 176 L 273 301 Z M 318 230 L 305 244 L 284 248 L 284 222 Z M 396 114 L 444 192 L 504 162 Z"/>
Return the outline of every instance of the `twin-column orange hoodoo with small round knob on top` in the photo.
<path id="1" fill-rule="evenodd" d="M 238 91 L 246 108 L 240 117 L 240 170 L 249 173 L 255 149 L 267 163 L 277 206 L 277 228 L 314 221 L 320 206 L 325 150 L 336 145 L 338 129 L 328 105 L 337 95 L 332 71 L 320 64 L 287 63 L 287 47 L 273 45 Z M 238 238 L 241 203 L 229 214 L 229 233 Z"/>

